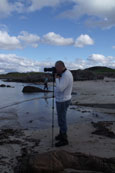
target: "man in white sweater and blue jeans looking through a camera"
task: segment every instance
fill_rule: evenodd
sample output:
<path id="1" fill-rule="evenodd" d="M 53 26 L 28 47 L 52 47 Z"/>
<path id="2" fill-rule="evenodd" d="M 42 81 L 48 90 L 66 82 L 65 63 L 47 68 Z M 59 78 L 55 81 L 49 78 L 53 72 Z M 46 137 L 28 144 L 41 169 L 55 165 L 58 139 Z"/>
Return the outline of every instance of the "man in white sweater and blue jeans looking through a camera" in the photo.
<path id="1" fill-rule="evenodd" d="M 66 114 L 71 102 L 73 76 L 72 73 L 66 69 L 63 61 L 57 61 L 55 68 L 55 99 L 59 126 L 59 134 L 55 137 L 58 142 L 55 146 L 60 147 L 68 145 Z"/>

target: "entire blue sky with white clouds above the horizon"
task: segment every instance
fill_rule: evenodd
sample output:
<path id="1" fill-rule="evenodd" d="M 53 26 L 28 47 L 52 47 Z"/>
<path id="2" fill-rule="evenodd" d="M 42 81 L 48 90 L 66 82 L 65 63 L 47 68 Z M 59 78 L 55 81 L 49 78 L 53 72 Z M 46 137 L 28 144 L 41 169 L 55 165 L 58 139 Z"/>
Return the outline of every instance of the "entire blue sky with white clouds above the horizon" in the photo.
<path id="1" fill-rule="evenodd" d="M 115 0 L 0 0 L 0 73 L 115 68 Z"/>

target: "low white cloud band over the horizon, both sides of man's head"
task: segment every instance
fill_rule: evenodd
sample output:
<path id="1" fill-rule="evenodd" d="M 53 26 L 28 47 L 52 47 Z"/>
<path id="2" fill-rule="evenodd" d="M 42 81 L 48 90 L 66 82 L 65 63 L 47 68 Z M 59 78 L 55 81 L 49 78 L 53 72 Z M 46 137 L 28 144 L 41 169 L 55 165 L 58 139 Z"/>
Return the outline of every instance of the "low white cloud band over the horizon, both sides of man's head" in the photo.
<path id="1" fill-rule="evenodd" d="M 54 66 L 54 61 L 34 61 L 15 54 L 0 54 L 0 73 L 43 71 L 44 67 Z M 87 59 L 76 58 L 75 61 L 65 61 L 68 69 L 85 69 L 92 66 L 107 66 L 115 68 L 115 57 L 92 54 Z"/>

